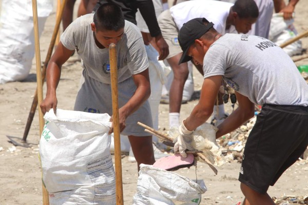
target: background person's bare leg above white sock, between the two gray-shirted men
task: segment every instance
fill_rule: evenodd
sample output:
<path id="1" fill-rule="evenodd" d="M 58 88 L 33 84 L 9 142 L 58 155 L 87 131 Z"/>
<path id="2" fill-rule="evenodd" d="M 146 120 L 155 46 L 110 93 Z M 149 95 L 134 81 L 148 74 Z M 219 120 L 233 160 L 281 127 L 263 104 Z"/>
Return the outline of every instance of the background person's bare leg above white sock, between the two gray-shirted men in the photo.
<path id="1" fill-rule="evenodd" d="M 182 53 L 179 53 L 167 59 L 174 72 L 174 79 L 169 91 L 169 112 L 180 113 L 183 89 L 189 73 L 187 63 L 178 65 L 181 56 Z"/>

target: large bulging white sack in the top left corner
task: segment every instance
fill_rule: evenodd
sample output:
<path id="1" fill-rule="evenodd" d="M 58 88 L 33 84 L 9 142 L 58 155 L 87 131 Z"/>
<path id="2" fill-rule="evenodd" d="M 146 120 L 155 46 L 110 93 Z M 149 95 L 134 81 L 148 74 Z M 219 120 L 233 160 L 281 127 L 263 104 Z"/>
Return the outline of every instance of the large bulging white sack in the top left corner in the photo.
<path id="1" fill-rule="evenodd" d="M 37 0 L 39 35 L 52 8 L 52 0 Z M 0 48 L 0 84 L 25 79 L 35 51 L 31 0 L 2 0 Z"/>

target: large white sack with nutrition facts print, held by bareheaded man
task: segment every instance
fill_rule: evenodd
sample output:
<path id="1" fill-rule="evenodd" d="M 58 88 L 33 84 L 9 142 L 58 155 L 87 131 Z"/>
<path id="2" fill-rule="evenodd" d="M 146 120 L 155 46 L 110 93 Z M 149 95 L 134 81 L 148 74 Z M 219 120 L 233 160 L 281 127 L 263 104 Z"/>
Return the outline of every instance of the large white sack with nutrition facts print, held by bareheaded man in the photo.
<path id="1" fill-rule="evenodd" d="M 53 110 L 40 140 L 50 204 L 115 204 L 108 114 Z"/>

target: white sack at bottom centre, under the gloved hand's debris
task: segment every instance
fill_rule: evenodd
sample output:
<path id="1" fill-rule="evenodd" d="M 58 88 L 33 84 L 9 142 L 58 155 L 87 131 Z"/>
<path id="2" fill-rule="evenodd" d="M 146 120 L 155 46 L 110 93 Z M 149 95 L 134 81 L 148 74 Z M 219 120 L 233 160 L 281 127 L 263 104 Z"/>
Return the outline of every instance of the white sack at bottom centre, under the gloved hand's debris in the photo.
<path id="1" fill-rule="evenodd" d="M 206 192 L 203 180 L 196 183 L 187 177 L 151 165 L 140 165 L 137 193 L 133 205 L 196 205 Z"/>

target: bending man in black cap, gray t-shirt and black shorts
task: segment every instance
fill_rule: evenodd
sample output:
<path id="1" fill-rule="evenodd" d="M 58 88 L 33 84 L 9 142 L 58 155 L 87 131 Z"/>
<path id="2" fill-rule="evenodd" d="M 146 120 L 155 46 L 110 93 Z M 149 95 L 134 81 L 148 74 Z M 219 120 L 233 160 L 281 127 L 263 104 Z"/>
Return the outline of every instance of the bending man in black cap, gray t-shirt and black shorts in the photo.
<path id="1" fill-rule="evenodd" d="M 245 34 L 219 34 L 205 18 L 194 18 L 179 32 L 183 55 L 203 65 L 204 81 L 199 103 L 183 120 L 175 151 L 189 148 L 191 133 L 213 112 L 223 79 L 235 90 L 238 108 L 217 128 L 216 138 L 254 116 L 256 124 L 247 139 L 239 181 L 244 204 L 275 204 L 267 194 L 282 173 L 308 145 L 308 86 L 293 60 L 270 40 Z"/>

